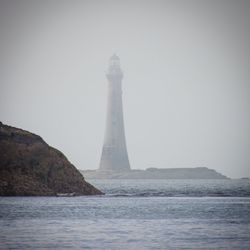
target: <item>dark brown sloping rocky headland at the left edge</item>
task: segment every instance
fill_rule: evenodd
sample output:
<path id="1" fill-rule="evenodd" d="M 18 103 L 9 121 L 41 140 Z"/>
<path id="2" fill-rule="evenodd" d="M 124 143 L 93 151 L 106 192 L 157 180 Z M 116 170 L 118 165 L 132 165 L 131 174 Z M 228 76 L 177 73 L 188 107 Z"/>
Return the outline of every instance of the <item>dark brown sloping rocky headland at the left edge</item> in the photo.
<path id="1" fill-rule="evenodd" d="M 41 137 L 0 123 L 0 195 L 57 194 L 102 192 Z"/>

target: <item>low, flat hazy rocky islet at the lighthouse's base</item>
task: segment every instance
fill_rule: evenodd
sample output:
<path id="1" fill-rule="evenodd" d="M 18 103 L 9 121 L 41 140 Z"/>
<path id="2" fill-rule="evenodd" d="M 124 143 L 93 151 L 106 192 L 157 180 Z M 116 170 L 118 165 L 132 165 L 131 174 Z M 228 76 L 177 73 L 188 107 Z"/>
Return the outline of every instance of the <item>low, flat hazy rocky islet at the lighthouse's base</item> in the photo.
<path id="1" fill-rule="evenodd" d="M 126 172 L 81 170 L 86 179 L 228 179 L 225 175 L 206 167 L 148 168 Z"/>

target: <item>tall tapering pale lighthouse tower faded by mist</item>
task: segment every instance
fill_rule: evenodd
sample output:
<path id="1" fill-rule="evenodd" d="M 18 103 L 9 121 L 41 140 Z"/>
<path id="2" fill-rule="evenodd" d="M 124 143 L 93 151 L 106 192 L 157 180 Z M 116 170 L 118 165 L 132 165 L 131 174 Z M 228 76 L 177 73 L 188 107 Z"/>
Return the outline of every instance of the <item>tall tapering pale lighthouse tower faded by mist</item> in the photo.
<path id="1" fill-rule="evenodd" d="M 104 144 L 99 171 L 129 171 L 129 159 L 122 110 L 122 78 L 120 59 L 113 55 L 107 71 L 108 101 Z"/>

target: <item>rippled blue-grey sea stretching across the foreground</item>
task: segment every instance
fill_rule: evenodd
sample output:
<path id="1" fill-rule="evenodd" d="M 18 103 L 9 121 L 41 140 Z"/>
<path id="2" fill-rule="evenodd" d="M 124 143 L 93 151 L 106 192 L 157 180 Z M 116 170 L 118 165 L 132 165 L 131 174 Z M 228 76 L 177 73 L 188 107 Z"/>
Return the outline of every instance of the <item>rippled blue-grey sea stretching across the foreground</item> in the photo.
<path id="1" fill-rule="evenodd" d="M 89 180 L 102 196 L 0 197 L 0 249 L 250 249 L 250 180 Z"/>

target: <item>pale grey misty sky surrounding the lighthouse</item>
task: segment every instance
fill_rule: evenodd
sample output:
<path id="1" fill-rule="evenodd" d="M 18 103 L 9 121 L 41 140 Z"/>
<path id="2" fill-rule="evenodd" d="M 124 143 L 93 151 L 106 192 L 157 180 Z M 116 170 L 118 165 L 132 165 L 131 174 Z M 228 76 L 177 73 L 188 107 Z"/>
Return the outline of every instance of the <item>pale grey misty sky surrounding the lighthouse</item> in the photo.
<path id="1" fill-rule="evenodd" d="M 0 120 L 97 169 L 113 53 L 132 169 L 250 177 L 250 1 L 0 0 Z"/>

